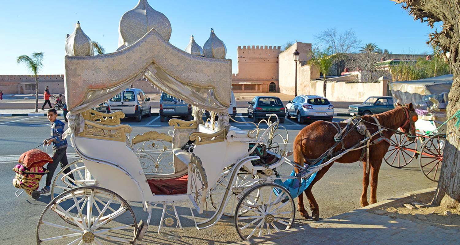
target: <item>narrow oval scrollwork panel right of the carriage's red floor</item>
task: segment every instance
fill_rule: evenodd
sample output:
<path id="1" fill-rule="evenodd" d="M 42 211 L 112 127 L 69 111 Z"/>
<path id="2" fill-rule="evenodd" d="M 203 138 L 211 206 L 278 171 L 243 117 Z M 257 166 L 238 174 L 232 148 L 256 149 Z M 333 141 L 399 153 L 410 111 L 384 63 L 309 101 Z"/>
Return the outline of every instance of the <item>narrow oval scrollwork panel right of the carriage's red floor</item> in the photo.
<path id="1" fill-rule="evenodd" d="M 203 212 L 207 193 L 207 176 L 199 157 L 192 154 L 189 164 L 190 194 L 193 197 L 199 213 Z"/>

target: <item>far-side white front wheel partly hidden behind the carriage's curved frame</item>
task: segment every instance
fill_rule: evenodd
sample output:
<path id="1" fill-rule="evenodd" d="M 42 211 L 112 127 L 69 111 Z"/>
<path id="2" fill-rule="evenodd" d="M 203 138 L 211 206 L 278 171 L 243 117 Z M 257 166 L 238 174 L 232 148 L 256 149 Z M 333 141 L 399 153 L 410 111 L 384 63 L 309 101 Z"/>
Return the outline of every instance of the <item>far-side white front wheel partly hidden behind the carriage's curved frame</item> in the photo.
<path id="1" fill-rule="evenodd" d="M 214 209 L 218 209 L 220 206 L 220 202 L 222 201 L 222 197 L 224 196 L 225 189 L 227 188 L 227 184 L 229 182 L 228 177 L 230 176 L 230 171 L 224 171 L 217 181 L 217 184 L 214 188 L 210 190 L 210 198 L 211 204 L 213 205 Z M 238 204 L 237 196 L 238 194 L 242 193 L 242 191 L 246 188 L 253 186 L 256 181 L 254 178 L 258 178 L 257 175 L 252 175 L 247 171 L 240 171 L 236 176 L 236 181 L 230 190 L 228 202 L 224 209 L 224 215 L 228 217 L 233 217 L 235 215 L 235 208 Z M 256 198 L 259 197 L 259 193 L 255 195 Z"/>

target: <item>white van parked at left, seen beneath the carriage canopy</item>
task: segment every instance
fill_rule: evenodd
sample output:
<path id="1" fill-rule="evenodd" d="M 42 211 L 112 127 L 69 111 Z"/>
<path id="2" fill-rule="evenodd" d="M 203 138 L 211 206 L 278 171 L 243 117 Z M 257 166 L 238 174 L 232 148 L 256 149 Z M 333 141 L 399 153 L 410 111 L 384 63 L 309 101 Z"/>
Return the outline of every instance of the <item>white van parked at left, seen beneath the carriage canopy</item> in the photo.
<path id="1" fill-rule="evenodd" d="M 125 117 L 135 117 L 138 122 L 143 116 L 150 117 L 150 98 L 138 88 L 128 88 L 110 98 L 107 102 L 110 112 L 121 111 Z"/>

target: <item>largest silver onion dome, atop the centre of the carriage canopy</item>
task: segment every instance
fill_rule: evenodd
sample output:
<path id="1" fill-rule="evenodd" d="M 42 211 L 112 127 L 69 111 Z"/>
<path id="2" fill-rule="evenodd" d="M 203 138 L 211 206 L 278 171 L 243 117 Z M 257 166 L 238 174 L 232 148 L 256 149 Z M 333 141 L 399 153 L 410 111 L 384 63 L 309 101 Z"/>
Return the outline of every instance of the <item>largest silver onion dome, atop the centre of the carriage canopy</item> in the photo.
<path id="1" fill-rule="evenodd" d="M 171 23 L 159 11 L 154 10 L 147 0 L 139 0 L 137 6 L 123 14 L 118 28 L 118 49 L 132 45 L 151 28 L 155 28 L 164 40 L 171 37 Z"/>

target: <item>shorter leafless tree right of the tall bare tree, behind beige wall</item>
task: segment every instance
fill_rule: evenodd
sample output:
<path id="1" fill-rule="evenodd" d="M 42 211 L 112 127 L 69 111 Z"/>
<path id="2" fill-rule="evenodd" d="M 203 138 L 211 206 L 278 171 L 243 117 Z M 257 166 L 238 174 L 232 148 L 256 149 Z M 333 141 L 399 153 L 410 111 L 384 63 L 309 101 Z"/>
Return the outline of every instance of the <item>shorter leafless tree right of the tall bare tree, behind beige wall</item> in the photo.
<path id="1" fill-rule="evenodd" d="M 361 73 L 361 82 L 377 82 L 381 76 L 388 76 L 385 63 L 382 62 L 385 54 L 365 51 L 351 54 L 346 61 L 347 67 Z"/>

